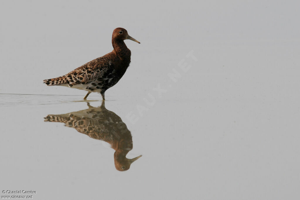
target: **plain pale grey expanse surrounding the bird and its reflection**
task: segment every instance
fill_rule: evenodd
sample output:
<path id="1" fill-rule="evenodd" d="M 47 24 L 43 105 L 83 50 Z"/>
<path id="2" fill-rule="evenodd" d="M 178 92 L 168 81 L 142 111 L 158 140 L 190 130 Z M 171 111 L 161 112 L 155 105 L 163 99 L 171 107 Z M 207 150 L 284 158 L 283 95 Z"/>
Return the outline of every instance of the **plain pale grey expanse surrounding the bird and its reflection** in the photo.
<path id="1" fill-rule="evenodd" d="M 299 199 L 299 6 L 1 1 L 0 189 L 35 190 L 34 199 Z M 106 92 L 132 133 L 128 157 L 143 154 L 126 172 L 108 144 L 43 121 L 87 109 L 76 102 L 85 91 L 42 80 L 110 52 L 116 27 L 141 42 L 125 41 L 131 66 Z"/>

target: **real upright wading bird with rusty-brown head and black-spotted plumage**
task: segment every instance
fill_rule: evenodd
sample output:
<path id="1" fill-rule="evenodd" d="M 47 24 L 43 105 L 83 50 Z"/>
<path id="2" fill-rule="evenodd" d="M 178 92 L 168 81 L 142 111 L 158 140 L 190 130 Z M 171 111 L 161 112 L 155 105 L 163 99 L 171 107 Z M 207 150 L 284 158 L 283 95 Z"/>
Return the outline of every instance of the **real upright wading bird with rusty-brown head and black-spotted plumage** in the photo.
<path id="1" fill-rule="evenodd" d="M 54 79 L 46 79 L 49 86 L 62 85 L 88 91 L 84 99 L 91 92 L 99 92 L 105 100 L 104 93 L 122 78 L 130 63 L 131 51 L 124 40 L 129 39 L 140 43 L 129 36 L 126 29 L 116 28 L 113 31 L 113 51 L 92 60 L 81 67 Z"/>

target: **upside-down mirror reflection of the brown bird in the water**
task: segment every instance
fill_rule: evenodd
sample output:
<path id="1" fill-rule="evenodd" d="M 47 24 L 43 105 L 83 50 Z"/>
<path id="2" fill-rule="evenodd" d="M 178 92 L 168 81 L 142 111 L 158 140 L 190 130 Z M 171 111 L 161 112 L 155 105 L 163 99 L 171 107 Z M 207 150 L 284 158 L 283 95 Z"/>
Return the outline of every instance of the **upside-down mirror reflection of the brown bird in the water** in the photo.
<path id="1" fill-rule="evenodd" d="M 91 138 L 110 143 L 115 150 L 114 160 L 116 169 L 126 171 L 131 163 L 142 155 L 128 159 L 126 155 L 132 149 L 132 136 L 126 124 L 116 113 L 105 108 L 104 101 L 98 108 L 90 106 L 88 109 L 61 115 L 48 115 L 44 121 L 63 122 L 65 126 L 75 128 Z"/>

